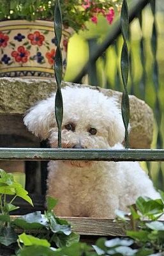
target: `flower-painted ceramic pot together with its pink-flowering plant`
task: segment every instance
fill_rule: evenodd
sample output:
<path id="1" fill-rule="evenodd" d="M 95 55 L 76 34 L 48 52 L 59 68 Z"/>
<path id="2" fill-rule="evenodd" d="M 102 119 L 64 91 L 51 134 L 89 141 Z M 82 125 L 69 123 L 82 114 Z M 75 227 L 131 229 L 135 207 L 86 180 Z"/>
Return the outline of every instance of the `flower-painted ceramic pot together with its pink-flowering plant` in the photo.
<path id="1" fill-rule="evenodd" d="M 73 31 L 97 23 L 104 16 L 109 24 L 121 8 L 121 0 L 61 0 L 63 14 L 63 72 L 68 39 Z M 3 0 L 0 4 L 0 76 L 54 78 L 54 8 L 56 0 Z M 21 21 L 20 21 L 21 20 Z"/>

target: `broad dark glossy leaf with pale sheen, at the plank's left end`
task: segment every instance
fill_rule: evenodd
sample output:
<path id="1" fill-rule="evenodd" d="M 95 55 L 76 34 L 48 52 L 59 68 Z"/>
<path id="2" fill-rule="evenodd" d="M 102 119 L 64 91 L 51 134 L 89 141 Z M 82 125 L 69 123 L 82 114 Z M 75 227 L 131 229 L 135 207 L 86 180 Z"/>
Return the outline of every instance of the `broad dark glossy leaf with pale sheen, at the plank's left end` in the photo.
<path id="1" fill-rule="evenodd" d="M 47 227 L 47 218 L 41 215 L 40 211 L 32 212 L 12 221 L 16 226 L 26 230 L 33 228 Z"/>

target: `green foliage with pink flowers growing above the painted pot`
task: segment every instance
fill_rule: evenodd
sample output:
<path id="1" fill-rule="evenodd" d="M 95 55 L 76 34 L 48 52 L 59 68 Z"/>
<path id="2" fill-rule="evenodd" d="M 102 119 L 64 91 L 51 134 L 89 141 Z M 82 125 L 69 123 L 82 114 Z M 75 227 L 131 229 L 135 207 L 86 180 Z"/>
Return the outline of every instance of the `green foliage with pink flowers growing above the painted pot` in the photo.
<path id="1" fill-rule="evenodd" d="M 0 5 L 0 20 L 4 19 L 47 19 L 54 20 L 56 0 L 34 1 L 3 0 Z M 123 0 L 60 0 L 64 26 L 70 26 L 75 31 L 86 29 L 86 21 L 97 23 L 98 16 L 103 15 L 109 24 L 114 19 L 114 13 L 120 12 Z"/>

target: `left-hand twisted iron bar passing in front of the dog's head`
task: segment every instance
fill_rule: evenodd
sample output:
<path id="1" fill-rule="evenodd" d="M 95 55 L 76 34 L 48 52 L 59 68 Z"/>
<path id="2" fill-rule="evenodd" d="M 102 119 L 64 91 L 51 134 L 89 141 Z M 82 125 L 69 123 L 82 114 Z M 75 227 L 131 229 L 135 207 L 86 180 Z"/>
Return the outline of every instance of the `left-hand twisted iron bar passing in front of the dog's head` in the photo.
<path id="1" fill-rule="evenodd" d="M 61 95 L 63 60 L 62 60 L 61 47 L 60 47 L 62 26 L 63 26 L 63 20 L 61 15 L 60 1 L 56 0 L 56 8 L 54 12 L 54 31 L 56 35 L 57 49 L 56 49 L 56 56 L 55 56 L 54 72 L 55 72 L 56 84 L 57 84 L 55 113 L 56 113 L 56 122 L 58 127 L 58 147 L 59 148 L 61 148 L 61 125 L 63 122 L 63 98 Z"/>

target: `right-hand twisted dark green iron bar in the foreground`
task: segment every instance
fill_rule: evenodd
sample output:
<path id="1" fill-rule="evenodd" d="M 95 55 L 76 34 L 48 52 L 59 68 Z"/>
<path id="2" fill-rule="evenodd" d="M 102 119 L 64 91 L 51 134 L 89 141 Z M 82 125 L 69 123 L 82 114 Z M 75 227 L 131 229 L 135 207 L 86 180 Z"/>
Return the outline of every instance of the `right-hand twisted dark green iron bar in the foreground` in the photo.
<path id="1" fill-rule="evenodd" d="M 126 44 L 126 39 L 128 38 L 129 30 L 129 17 L 128 17 L 128 5 L 126 0 L 123 1 L 123 6 L 121 9 L 121 31 L 123 34 L 123 48 L 121 52 L 121 76 L 123 78 L 124 91 L 121 101 L 121 111 L 123 116 L 123 122 L 125 127 L 125 147 L 129 147 L 129 137 L 128 137 L 128 124 L 130 120 L 130 102 L 127 91 L 128 83 L 128 72 L 129 72 L 129 58 L 128 58 L 128 47 Z"/>

